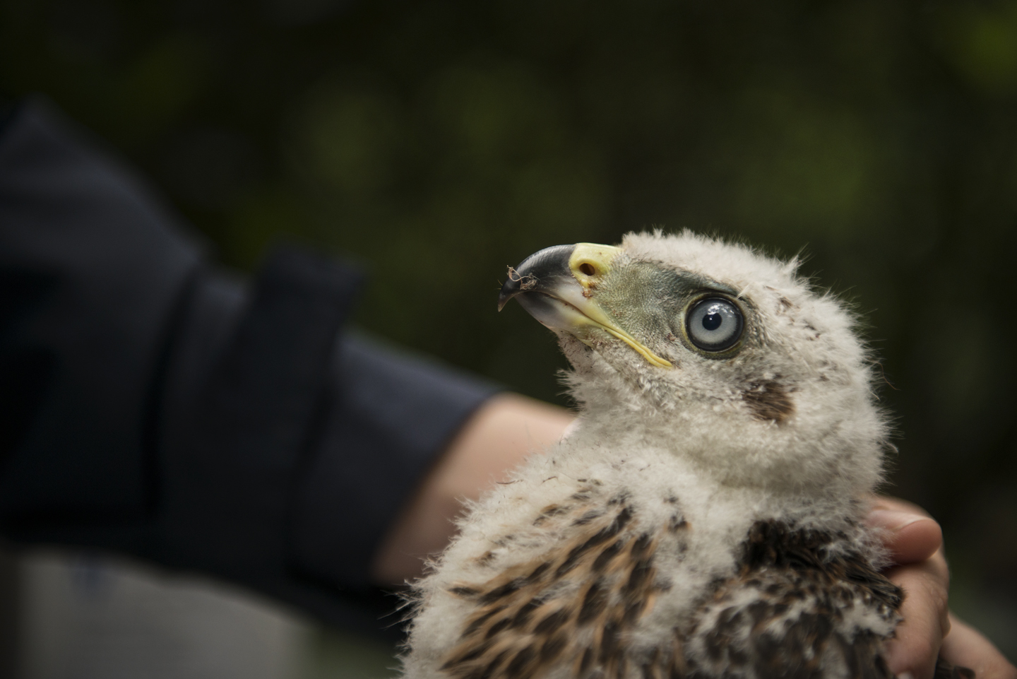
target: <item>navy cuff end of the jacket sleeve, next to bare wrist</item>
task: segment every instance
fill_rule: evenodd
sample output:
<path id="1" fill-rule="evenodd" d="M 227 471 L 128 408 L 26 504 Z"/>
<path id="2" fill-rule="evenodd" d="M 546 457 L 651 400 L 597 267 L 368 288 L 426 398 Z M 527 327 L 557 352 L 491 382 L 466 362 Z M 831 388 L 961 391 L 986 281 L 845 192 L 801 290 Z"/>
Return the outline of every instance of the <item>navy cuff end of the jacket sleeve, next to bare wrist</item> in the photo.
<path id="1" fill-rule="evenodd" d="M 336 353 L 291 549 L 304 576 L 362 588 L 407 497 L 498 389 L 357 337 L 342 338 Z"/>

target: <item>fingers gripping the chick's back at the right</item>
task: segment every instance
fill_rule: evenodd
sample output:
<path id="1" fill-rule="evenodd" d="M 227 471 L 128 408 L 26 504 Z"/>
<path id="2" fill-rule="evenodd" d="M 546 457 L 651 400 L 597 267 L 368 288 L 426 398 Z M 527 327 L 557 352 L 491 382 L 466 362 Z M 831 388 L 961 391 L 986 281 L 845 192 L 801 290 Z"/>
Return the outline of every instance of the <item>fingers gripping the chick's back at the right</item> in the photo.
<path id="1" fill-rule="evenodd" d="M 882 529 L 894 565 L 886 576 L 907 596 L 897 636 L 887 648 L 890 671 L 898 677 L 932 679 L 937 657 L 967 667 L 976 679 L 1017 679 L 1017 670 L 983 636 L 948 609 L 950 574 L 940 525 L 922 509 L 895 498 L 878 498 L 868 519 Z"/>

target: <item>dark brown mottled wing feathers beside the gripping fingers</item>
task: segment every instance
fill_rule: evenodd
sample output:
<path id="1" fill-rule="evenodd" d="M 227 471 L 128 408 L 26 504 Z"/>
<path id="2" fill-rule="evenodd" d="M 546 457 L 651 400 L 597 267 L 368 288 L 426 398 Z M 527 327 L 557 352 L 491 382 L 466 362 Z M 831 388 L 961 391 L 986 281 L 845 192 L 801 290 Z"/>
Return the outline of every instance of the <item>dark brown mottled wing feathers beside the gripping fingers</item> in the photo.
<path id="1" fill-rule="evenodd" d="M 891 679 L 884 637 L 851 615 L 892 629 L 900 587 L 850 552 L 845 535 L 759 521 L 742 543 L 740 569 L 701 609 L 690 648 L 706 676 Z"/>

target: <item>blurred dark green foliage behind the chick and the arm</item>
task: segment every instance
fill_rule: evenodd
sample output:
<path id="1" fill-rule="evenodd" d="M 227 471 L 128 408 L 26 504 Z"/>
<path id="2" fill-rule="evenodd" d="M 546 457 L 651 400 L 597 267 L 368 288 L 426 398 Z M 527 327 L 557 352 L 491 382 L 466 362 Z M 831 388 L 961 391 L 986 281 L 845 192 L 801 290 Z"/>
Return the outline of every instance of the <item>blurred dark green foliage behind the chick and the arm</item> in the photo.
<path id="1" fill-rule="evenodd" d="M 367 330 L 562 402 L 494 300 L 547 245 L 690 227 L 854 301 L 887 490 L 1017 656 L 1017 2 L 0 0 L 0 89 L 140 167 L 227 265 L 361 262 Z"/>

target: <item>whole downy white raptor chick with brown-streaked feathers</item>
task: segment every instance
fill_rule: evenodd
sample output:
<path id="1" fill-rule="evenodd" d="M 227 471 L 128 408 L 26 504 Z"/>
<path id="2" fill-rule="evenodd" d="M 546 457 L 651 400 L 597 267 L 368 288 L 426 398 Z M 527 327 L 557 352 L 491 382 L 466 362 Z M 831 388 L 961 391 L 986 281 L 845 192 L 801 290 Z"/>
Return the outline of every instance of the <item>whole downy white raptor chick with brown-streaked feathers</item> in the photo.
<path id="1" fill-rule="evenodd" d="M 579 427 L 468 508 L 406 676 L 891 677 L 902 592 L 862 524 L 886 417 L 844 305 L 690 232 L 541 250 L 514 298 Z"/>

